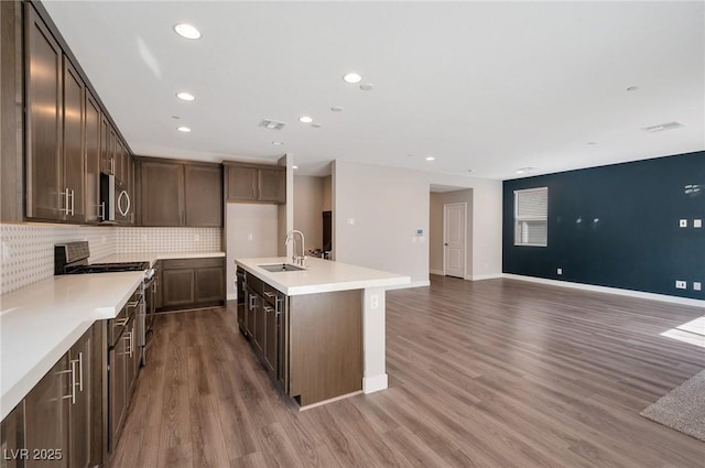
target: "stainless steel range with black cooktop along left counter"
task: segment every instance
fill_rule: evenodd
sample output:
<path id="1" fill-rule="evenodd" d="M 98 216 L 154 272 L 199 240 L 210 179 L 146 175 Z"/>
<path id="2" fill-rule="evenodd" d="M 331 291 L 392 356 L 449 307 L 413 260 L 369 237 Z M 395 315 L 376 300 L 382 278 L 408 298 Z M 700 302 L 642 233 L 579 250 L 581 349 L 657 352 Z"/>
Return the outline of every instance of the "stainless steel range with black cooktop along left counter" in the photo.
<path id="1" fill-rule="evenodd" d="M 87 241 L 57 243 L 54 246 L 54 274 L 143 272 L 137 306 L 137 349 L 140 363 L 147 363 L 147 349 L 154 335 L 154 293 L 156 277 L 149 262 L 89 263 L 90 250 Z"/>

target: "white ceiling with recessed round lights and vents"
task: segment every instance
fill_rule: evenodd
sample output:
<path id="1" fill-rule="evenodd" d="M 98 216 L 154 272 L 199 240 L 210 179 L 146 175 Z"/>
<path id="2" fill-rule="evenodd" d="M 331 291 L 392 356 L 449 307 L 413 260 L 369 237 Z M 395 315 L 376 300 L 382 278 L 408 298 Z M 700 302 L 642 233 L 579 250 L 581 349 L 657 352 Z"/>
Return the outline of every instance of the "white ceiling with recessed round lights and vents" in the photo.
<path id="1" fill-rule="evenodd" d="M 705 149 L 702 1 L 44 4 L 140 155 L 506 179 Z"/>

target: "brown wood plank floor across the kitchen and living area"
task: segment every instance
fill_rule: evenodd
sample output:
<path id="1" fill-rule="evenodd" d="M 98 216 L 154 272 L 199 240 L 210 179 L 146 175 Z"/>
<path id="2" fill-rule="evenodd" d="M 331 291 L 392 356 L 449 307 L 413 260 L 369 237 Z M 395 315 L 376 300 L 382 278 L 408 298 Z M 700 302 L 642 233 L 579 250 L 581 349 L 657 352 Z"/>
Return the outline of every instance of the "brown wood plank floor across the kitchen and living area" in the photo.
<path id="1" fill-rule="evenodd" d="M 703 468 L 639 412 L 705 368 L 697 307 L 432 276 L 387 295 L 389 389 L 297 412 L 234 309 L 167 314 L 110 468 Z"/>

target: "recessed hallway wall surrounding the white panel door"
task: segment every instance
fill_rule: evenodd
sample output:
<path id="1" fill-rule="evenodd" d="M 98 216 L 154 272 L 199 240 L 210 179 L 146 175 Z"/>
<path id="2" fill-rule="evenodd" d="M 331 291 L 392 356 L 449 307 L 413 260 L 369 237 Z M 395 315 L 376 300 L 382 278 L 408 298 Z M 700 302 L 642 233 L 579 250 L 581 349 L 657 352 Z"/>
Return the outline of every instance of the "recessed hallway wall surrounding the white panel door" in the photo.
<path id="1" fill-rule="evenodd" d="M 449 203 L 465 203 L 466 206 L 466 237 L 465 237 L 465 275 L 473 276 L 473 189 L 431 193 L 431 226 L 429 227 L 429 268 L 431 273 L 444 274 L 443 255 L 443 205 Z"/>

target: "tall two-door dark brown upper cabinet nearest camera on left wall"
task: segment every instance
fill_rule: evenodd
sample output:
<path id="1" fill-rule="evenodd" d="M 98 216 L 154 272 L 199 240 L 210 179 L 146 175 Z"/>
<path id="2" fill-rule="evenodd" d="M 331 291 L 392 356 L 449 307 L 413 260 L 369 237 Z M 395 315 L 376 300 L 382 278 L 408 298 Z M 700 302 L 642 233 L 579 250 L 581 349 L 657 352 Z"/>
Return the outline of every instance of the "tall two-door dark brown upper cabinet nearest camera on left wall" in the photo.
<path id="1" fill-rule="evenodd" d="M 25 7 L 26 217 L 84 222 L 84 83 Z"/>

